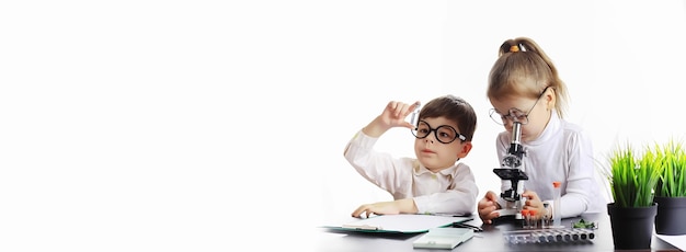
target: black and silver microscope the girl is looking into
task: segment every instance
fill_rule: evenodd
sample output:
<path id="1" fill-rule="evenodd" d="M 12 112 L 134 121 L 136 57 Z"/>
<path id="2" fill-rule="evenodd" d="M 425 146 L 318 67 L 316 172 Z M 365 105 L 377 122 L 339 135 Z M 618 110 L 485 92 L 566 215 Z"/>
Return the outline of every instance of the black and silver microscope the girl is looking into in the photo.
<path id="1" fill-rule="evenodd" d="M 501 193 L 501 198 L 505 199 L 505 206 L 501 206 L 501 216 L 515 216 L 515 219 L 524 219 L 522 216 L 522 208 L 524 202 L 522 195 L 517 192 L 519 181 L 528 180 L 528 176 L 522 171 L 522 158 L 526 156 L 526 150 L 522 146 L 522 123 L 514 122 L 512 127 L 512 141 L 510 142 L 510 149 L 507 154 L 503 157 L 501 168 L 493 169 L 493 172 L 501 180 L 511 181 L 511 188 Z"/>

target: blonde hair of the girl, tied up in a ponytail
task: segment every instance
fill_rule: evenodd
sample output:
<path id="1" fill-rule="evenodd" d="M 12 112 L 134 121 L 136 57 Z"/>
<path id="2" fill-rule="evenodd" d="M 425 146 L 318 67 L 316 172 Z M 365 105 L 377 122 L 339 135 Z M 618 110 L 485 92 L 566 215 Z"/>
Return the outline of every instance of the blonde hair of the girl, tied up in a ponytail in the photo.
<path id="1" fill-rule="evenodd" d="M 554 90 L 554 108 L 562 118 L 569 100 L 567 87 L 546 53 L 528 37 L 505 41 L 489 73 L 489 99 L 511 95 L 537 99 L 547 87 Z"/>

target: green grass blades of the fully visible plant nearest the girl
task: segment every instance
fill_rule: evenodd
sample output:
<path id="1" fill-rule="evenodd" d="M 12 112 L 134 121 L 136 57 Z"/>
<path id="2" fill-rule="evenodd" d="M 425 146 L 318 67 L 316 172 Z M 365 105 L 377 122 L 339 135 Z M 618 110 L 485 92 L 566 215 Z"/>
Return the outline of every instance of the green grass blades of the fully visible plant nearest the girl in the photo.
<path id="1" fill-rule="evenodd" d="M 639 156 L 630 145 L 618 147 L 608 156 L 609 180 L 617 207 L 649 207 L 653 205 L 654 188 L 660 180 L 661 160 L 658 151 L 647 149 Z"/>

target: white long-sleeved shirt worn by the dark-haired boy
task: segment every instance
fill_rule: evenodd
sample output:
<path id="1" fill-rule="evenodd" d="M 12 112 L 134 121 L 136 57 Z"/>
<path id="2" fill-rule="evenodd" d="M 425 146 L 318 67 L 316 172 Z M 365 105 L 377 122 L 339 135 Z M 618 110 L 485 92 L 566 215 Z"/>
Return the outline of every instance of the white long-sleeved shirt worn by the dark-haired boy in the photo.
<path id="1" fill-rule="evenodd" d="M 479 190 L 470 168 L 461 162 L 432 172 L 415 158 L 393 158 L 373 149 L 378 138 L 359 130 L 347 144 L 345 159 L 367 181 L 393 199 L 413 198 L 419 214 L 471 214 Z"/>

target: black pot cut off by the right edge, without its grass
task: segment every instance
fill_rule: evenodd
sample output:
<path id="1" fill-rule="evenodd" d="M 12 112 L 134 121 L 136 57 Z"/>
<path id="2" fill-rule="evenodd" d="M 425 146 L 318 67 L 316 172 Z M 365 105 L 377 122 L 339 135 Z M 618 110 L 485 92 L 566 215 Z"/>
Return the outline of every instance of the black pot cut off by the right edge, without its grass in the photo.
<path id="1" fill-rule="evenodd" d="M 686 197 L 658 197 L 655 232 L 667 236 L 686 234 Z"/>

